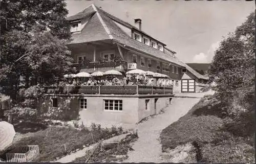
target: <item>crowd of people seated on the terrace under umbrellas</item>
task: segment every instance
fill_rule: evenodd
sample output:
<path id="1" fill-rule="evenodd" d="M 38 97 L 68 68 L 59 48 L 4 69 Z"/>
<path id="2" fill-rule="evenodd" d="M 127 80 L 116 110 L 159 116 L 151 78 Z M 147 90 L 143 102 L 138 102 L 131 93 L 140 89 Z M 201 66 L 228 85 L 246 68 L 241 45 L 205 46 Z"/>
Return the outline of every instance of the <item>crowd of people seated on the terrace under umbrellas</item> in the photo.
<path id="1" fill-rule="evenodd" d="M 148 80 L 145 79 L 144 76 L 142 76 L 140 79 L 136 78 L 136 76 L 132 77 L 124 77 L 122 79 L 119 79 L 117 77 L 112 77 L 112 78 L 105 78 L 105 79 L 99 79 L 96 78 L 92 80 L 92 78 L 89 78 L 87 81 L 83 80 L 81 81 L 80 79 L 69 79 L 68 85 L 83 85 L 83 86 L 98 86 L 98 85 L 149 85 L 153 86 L 155 85 L 154 80 Z"/>

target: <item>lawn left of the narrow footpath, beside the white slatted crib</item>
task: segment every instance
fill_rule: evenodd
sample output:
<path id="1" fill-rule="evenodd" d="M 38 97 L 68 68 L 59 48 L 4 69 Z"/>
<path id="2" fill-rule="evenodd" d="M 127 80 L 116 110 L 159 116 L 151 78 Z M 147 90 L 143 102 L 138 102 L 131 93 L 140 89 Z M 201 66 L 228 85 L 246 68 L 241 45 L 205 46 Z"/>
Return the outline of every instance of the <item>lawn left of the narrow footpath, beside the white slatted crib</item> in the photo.
<path id="1" fill-rule="evenodd" d="M 34 161 L 54 161 L 82 149 L 84 146 L 89 146 L 101 139 L 107 139 L 120 133 L 122 131 L 117 131 L 117 128 L 101 129 L 99 126 L 92 130 L 53 126 L 29 133 L 26 137 L 17 140 L 9 150 L 24 145 L 38 145 L 40 154 Z M 66 151 L 64 145 L 66 145 Z"/>

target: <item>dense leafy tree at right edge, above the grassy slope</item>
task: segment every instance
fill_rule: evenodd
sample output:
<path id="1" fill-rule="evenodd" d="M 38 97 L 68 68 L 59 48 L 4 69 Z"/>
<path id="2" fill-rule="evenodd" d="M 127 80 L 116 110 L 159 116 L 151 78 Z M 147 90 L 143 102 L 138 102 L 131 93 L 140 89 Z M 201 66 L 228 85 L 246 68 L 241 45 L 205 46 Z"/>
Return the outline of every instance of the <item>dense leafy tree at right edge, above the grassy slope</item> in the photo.
<path id="1" fill-rule="evenodd" d="M 209 77 L 217 84 L 214 88 L 216 96 L 229 104 L 241 88 L 254 91 L 254 15 L 251 13 L 241 26 L 221 41 L 210 65 Z M 252 92 L 247 89 L 244 91 Z"/>

